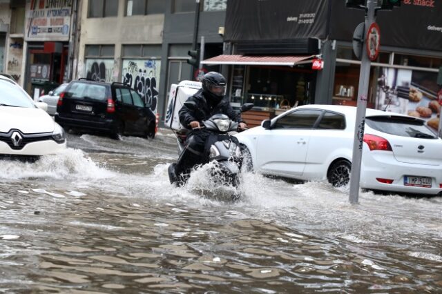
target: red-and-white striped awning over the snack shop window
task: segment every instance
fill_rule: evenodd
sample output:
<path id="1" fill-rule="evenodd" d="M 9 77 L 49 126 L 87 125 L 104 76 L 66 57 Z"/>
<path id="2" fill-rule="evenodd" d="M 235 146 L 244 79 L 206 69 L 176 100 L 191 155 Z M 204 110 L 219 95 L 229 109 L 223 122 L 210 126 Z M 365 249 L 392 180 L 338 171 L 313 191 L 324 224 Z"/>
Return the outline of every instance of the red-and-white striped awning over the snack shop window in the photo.
<path id="1" fill-rule="evenodd" d="M 202 64 L 237 64 L 239 66 L 295 66 L 300 63 L 309 63 L 315 55 L 308 56 L 269 56 L 269 55 L 218 55 L 201 61 Z"/>

